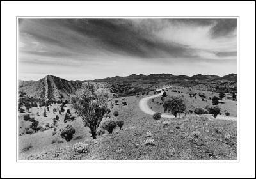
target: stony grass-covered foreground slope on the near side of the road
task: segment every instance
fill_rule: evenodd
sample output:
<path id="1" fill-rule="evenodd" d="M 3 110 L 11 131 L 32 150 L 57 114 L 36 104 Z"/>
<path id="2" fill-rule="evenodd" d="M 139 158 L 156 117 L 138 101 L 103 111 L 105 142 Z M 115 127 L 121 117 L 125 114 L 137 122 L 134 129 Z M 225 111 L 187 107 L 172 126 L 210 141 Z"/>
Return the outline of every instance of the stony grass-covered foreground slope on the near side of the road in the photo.
<path id="1" fill-rule="evenodd" d="M 166 119 L 169 124 L 164 125 L 164 119 L 155 121 L 152 116 L 140 111 L 138 108 L 140 98 L 118 98 L 119 105 L 114 105 L 110 114 L 115 110 L 119 111 L 120 115 L 117 118 L 124 120 L 124 127 L 122 130 L 116 128 L 113 134 L 98 136 L 96 140 L 92 140 L 88 128 L 83 127 L 80 118 L 69 122 L 76 128 L 76 136 L 83 135 L 84 138 L 80 140 L 72 139 L 70 142 L 51 144 L 52 140 L 61 139 L 59 130 L 55 136 L 52 136 L 53 129 L 19 136 L 19 159 L 209 160 L 211 152 L 213 160 L 236 159 L 236 121 L 191 117 Z M 123 100 L 127 102 L 127 106 L 122 106 Z M 58 125 L 58 129 L 63 127 L 63 118 L 58 121 Z M 177 126 L 180 128 L 177 129 Z M 148 131 L 152 132 L 152 137 L 146 136 Z M 193 131 L 199 131 L 200 138 L 191 138 Z M 143 144 L 145 139 L 154 139 L 156 145 L 146 146 Z M 90 153 L 75 154 L 72 145 L 78 141 L 88 143 Z M 29 143 L 33 147 L 27 152 L 22 152 L 22 148 Z"/>

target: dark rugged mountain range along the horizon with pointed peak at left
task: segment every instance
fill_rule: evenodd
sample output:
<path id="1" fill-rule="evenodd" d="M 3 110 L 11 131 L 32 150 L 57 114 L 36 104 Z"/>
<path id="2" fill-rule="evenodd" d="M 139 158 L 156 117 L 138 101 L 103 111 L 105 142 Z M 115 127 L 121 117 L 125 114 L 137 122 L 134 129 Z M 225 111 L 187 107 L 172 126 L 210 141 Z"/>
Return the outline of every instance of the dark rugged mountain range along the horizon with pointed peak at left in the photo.
<path id="1" fill-rule="evenodd" d="M 53 75 L 38 81 L 18 82 L 19 92 L 26 93 L 26 97 L 39 98 L 44 100 L 62 100 L 69 98 L 84 82 L 93 83 L 101 88 L 106 88 L 119 96 L 134 95 L 140 91 L 154 90 L 156 86 L 166 84 L 175 84 L 179 86 L 189 86 L 208 91 L 236 91 L 237 74 L 228 74 L 223 77 L 217 75 L 197 74 L 191 77 L 187 75 L 172 74 L 150 74 L 136 75 L 127 77 L 107 77 L 104 79 L 95 79 L 92 81 L 68 81 Z"/>

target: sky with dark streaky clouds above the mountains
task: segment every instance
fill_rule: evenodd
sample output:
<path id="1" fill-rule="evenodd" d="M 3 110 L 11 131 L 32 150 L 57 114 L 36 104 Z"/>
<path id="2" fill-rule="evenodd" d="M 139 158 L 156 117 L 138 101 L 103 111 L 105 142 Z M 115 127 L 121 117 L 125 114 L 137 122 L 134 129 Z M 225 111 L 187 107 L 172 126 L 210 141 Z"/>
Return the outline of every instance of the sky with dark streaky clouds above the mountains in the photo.
<path id="1" fill-rule="evenodd" d="M 19 19 L 18 78 L 237 73 L 237 19 Z"/>

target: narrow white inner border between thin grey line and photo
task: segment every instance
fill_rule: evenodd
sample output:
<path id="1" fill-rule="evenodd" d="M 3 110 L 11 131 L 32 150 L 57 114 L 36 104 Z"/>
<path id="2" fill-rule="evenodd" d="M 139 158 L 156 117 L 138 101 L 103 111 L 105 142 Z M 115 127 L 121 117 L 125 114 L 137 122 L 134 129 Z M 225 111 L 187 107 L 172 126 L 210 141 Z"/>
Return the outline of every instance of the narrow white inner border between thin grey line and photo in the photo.
<path id="1" fill-rule="evenodd" d="M 18 20 L 22 18 L 31 18 L 31 19 L 61 19 L 61 18 L 67 18 L 67 19 L 72 19 L 72 18 L 77 18 L 77 19 L 115 19 L 115 18 L 120 18 L 120 19 L 127 19 L 127 18 L 133 18 L 133 19 L 178 19 L 178 18 L 184 18 L 184 19 L 200 19 L 200 18 L 205 18 L 205 19 L 212 19 L 212 18 L 219 18 L 219 19 L 237 19 L 237 94 L 239 94 L 239 17 L 238 16 L 230 16 L 230 17 L 218 17 L 218 16 L 68 16 L 68 17 L 63 17 L 63 16 L 17 16 L 16 17 L 16 26 L 17 26 L 17 31 L 16 31 L 16 44 L 17 47 L 19 47 L 19 38 L 18 38 Z M 18 49 L 16 49 L 17 57 L 19 57 L 18 54 Z M 19 65 L 18 59 L 16 57 L 16 64 L 17 66 Z M 19 69 L 19 68 L 17 68 Z M 18 78 L 18 71 L 16 70 L 16 77 Z M 18 82 L 17 82 L 18 84 Z M 18 85 L 17 85 L 18 86 Z M 16 90 L 18 92 L 18 88 L 16 87 Z M 18 99 L 17 99 L 18 102 Z M 17 105 L 16 105 L 17 107 Z M 18 109 L 16 109 L 17 111 Z M 16 126 L 18 123 L 18 115 L 16 116 Z M 18 127 L 16 127 L 16 133 L 18 131 Z M 16 134 L 17 136 L 17 134 Z M 18 159 L 18 136 L 16 139 L 16 161 L 17 162 L 239 162 L 239 95 L 237 96 L 237 159 L 236 160 L 19 160 Z"/>

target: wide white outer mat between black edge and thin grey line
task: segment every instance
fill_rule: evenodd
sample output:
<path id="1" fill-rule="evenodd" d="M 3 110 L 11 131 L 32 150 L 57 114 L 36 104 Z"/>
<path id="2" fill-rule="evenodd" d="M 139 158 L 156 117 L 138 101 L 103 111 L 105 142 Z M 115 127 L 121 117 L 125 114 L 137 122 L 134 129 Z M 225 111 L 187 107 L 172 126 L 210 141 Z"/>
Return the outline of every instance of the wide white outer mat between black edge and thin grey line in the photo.
<path id="1" fill-rule="evenodd" d="M 13 109 L 19 15 L 239 16 L 240 162 L 16 162 Z M 255 177 L 255 2 L 1 2 L 1 24 L 2 177 Z"/>

